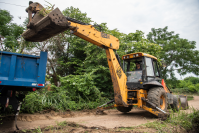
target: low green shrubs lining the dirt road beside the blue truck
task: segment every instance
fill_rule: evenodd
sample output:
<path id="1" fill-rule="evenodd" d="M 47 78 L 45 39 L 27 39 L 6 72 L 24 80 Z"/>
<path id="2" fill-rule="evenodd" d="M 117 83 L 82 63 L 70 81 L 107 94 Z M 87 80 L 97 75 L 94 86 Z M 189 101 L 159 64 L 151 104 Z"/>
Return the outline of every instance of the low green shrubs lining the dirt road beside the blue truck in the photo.
<path id="1" fill-rule="evenodd" d="M 36 92 L 29 92 L 21 111 L 27 113 L 53 110 L 93 109 L 108 101 L 101 96 L 95 86 L 91 73 L 84 75 L 69 75 L 60 77 L 61 86 L 51 86 Z"/>

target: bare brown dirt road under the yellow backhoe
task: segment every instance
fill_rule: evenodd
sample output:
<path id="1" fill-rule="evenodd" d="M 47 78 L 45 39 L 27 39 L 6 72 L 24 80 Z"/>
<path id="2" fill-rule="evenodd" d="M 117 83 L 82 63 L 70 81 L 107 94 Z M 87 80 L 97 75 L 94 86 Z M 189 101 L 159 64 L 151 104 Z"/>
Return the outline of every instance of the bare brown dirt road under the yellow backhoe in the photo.
<path id="1" fill-rule="evenodd" d="M 189 101 L 188 104 L 190 107 L 199 109 L 199 96 L 194 96 L 194 100 Z M 191 109 L 184 111 L 190 112 Z M 55 126 L 60 122 L 66 121 L 69 123 L 69 127 L 72 128 L 72 131 L 67 132 L 95 132 L 96 129 L 108 132 L 110 131 L 109 129 L 138 126 L 158 119 L 149 112 L 138 108 L 133 108 L 131 112 L 126 114 L 115 109 L 104 112 L 105 114 L 103 115 L 96 115 L 96 110 L 75 112 L 46 111 L 42 114 L 20 114 L 17 119 L 17 125 L 20 130 L 27 130 L 38 127 L 45 128 L 50 125 Z M 3 117 L 2 122 L 3 124 L 0 124 L 0 132 L 13 132 L 16 130 L 13 116 Z M 81 125 L 81 128 L 74 128 L 73 125 Z M 140 130 L 143 131 L 142 129 Z M 145 129 L 145 132 L 146 130 L 148 129 Z"/>

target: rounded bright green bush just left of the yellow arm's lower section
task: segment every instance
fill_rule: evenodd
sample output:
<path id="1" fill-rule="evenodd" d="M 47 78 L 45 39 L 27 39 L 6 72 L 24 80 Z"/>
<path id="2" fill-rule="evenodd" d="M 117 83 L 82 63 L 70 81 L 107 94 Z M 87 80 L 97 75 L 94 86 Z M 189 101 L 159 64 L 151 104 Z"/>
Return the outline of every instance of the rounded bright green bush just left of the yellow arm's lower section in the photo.
<path id="1" fill-rule="evenodd" d="M 99 89 L 95 86 L 91 73 L 61 77 L 60 81 L 60 89 L 67 90 L 68 96 L 73 101 L 79 101 L 79 97 L 84 100 L 95 101 L 101 96 Z"/>

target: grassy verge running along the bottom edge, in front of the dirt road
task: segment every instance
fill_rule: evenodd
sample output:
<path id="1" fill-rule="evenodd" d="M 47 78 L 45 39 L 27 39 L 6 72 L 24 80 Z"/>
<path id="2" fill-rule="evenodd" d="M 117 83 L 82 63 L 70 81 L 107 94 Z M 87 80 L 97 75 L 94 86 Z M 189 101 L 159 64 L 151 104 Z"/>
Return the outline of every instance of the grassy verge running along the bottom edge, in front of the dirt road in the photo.
<path id="1" fill-rule="evenodd" d="M 156 120 L 139 126 L 133 127 L 121 127 L 117 129 L 99 129 L 99 132 L 158 132 L 158 133 L 177 133 L 177 132 L 198 132 L 196 129 L 199 128 L 199 110 L 190 108 L 191 113 L 185 111 L 173 112 L 170 110 L 170 118 L 165 121 Z M 97 131 L 96 129 L 88 129 L 88 127 L 71 123 L 71 122 L 57 122 L 55 126 L 48 126 L 46 128 L 35 128 L 34 130 L 21 130 L 21 132 L 28 133 L 55 133 L 55 132 L 70 132 L 75 129 L 84 130 L 84 132 Z"/>

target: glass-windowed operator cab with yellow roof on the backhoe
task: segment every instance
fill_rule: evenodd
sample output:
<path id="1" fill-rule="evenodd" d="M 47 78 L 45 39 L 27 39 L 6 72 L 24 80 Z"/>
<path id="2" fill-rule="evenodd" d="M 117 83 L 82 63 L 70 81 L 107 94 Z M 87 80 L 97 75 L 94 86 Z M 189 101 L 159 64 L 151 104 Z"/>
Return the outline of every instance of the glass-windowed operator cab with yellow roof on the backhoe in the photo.
<path id="1" fill-rule="evenodd" d="M 160 80 L 160 69 L 156 57 L 138 52 L 124 55 L 122 59 L 128 88 L 143 88 L 143 83 Z"/>

